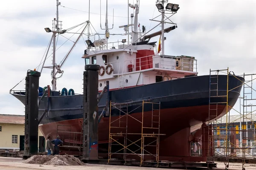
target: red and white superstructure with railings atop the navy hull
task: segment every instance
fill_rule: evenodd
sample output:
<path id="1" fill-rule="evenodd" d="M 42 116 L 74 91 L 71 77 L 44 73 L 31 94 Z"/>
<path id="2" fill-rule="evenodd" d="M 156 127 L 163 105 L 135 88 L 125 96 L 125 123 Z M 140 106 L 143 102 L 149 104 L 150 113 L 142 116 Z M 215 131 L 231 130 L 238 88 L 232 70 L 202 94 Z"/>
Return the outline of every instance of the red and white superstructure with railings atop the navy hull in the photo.
<path id="1" fill-rule="evenodd" d="M 148 34 L 149 31 L 146 33 L 144 26 L 141 31 L 140 23 L 138 23 L 138 4 L 138 2 L 135 5 L 129 4 L 135 9 L 135 16 L 131 14 L 131 18 L 134 17 L 134 23 L 119 26 L 119 28 L 124 28 L 125 35 L 132 36 L 132 42 L 126 42 L 126 39 L 120 42 L 108 42 L 108 26 L 106 26 L 105 39 L 94 42 L 86 41 L 88 48 L 82 56 L 85 64 L 101 66 L 99 91 L 103 90 L 107 80 L 111 82 L 110 89 L 116 90 L 198 74 L 197 61 L 194 57 L 170 56 L 164 55 L 163 52 L 157 54 L 155 47 L 158 42 L 149 42 L 149 40 L 158 35 L 164 37 L 164 33 L 175 29 L 175 26 L 166 29 L 162 27 L 161 31 L 153 34 Z M 172 14 L 175 13 L 172 12 Z M 128 30 L 132 30 L 131 33 L 128 33 Z M 160 45 L 163 49 L 164 42 L 162 41 Z"/>

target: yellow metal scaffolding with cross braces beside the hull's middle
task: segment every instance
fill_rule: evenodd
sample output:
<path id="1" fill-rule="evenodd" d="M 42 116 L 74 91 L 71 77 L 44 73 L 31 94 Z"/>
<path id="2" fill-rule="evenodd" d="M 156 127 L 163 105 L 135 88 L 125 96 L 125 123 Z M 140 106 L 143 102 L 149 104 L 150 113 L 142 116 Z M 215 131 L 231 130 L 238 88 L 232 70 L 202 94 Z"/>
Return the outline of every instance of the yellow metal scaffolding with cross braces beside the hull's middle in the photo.
<path id="1" fill-rule="evenodd" d="M 130 110 L 130 111 L 129 111 Z M 159 161 L 160 102 L 140 105 L 110 102 L 108 163 L 113 155 L 126 161 L 145 156 Z M 116 159 L 116 158 L 114 158 Z"/>

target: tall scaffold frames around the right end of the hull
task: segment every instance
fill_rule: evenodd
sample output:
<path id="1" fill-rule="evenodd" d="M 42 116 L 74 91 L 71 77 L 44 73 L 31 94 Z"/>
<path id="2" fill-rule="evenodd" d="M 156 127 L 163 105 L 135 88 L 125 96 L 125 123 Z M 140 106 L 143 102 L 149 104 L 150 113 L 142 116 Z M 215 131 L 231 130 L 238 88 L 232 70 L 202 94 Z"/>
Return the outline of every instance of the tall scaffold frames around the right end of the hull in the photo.
<path id="1" fill-rule="evenodd" d="M 219 75 L 220 72 L 224 73 L 223 71 L 227 71 L 227 96 L 220 96 L 220 95 L 218 95 L 218 75 Z M 216 74 L 212 75 L 211 74 L 212 72 L 217 72 L 217 75 Z M 256 90 L 254 90 L 254 88 L 253 88 L 253 81 L 255 81 L 256 78 L 253 78 L 253 76 L 255 76 L 256 74 L 243 74 L 243 75 L 241 75 L 240 77 L 244 78 L 244 82 L 242 83 L 242 85 L 238 85 L 237 87 L 235 87 L 233 89 L 228 89 L 229 76 L 236 77 L 236 75 L 230 74 L 230 72 L 229 72 L 228 68 L 226 70 L 214 70 L 214 71 L 210 70 L 210 76 L 209 76 L 209 79 L 210 79 L 210 82 L 209 82 L 209 120 L 210 120 L 210 117 L 213 116 L 213 115 L 211 115 L 211 111 L 214 110 L 210 106 L 211 105 L 216 105 L 216 114 L 217 114 L 218 104 L 224 104 L 225 103 L 226 104 L 226 114 L 225 114 L 226 121 L 225 121 L 225 125 L 223 125 L 222 118 L 215 119 L 213 121 L 213 124 L 212 124 L 212 122 L 208 121 L 208 125 L 210 125 L 210 124 L 212 125 L 212 129 L 211 129 L 212 130 L 212 136 L 208 135 L 208 138 L 209 138 L 208 139 L 208 150 L 209 150 L 209 152 L 208 152 L 208 159 L 207 159 L 207 161 L 211 162 L 211 161 L 215 161 L 217 158 L 222 158 L 222 159 L 224 159 L 224 164 L 226 165 L 226 169 L 227 169 L 229 167 L 229 159 L 240 158 L 240 159 L 242 159 L 242 169 L 244 169 L 244 164 L 245 164 L 245 159 L 246 159 L 246 154 L 245 153 L 247 153 L 246 150 L 252 149 L 251 148 L 252 146 L 245 147 L 244 143 L 245 143 L 245 141 L 250 140 L 250 139 L 256 140 L 255 137 L 253 137 L 253 138 L 244 137 L 244 134 L 248 132 L 248 129 L 247 129 L 247 122 L 248 122 L 248 120 L 251 122 L 251 126 L 254 127 L 253 128 L 254 130 L 250 130 L 250 131 L 253 131 L 254 134 L 256 132 L 255 131 L 256 122 L 253 121 L 253 119 L 252 119 L 252 113 L 256 111 L 256 110 L 253 111 L 252 107 L 256 107 L 256 105 L 247 105 L 247 103 L 246 103 L 246 105 L 244 105 L 245 104 L 244 101 L 247 101 L 247 100 L 254 100 L 254 101 L 256 101 L 256 99 L 253 98 L 253 92 L 256 92 Z M 246 77 L 248 77 L 248 76 L 250 77 L 250 80 L 246 81 Z M 216 84 L 217 88 L 216 89 L 211 89 L 211 85 L 214 84 L 214 83 L 211 83 L 211 79 L 214 78 L 214 77 L 217 78 L 217 84 Z M 236 77 L 236 79 L 238 79 L 238 78 Z M 250 82 L 250 85 L 248 85 L 249 82 Z M 242 113 L 241 113 L 241 111 L 240 112 L 236 111 L 234 108 L 232 108 L 228 104 L 228 92 L 230 92 L 230 91 L 232 91 L 232 90 L 234 90 L 236 88 L 239 88 L 241 86 L 243 86 L 243 92 L 242 92 L 243 97 L 239 97 L 239 98 L 243 99 L 243 105 L 242 106 L 243 106 L 244 109 L 243 109 Z M 249 88 L 250 89 L 250 93 L 245 93 L 245 88 Z M 212 95 L 213 91 L 217 91 L 217 94 Z M 244 94 L 249 94 L 250 95 L 250 99 L 247 99 L 247 98 L 245 99 Z M 211 99 L 214 98 L 214 97 L 226 97 L 226 101 L 225 102 L 213 103 L 213 102 L 211 102 Z M 241 102 L 241 100 L 240 100 L 240 102 Z M 240 105 L 240 107 L 241 107 L 241 105 Z M 249 112 L 247 112 L 247 107 L 250 107 L 250 111 Z M 230 113 L 228 111 L 230 108 L 233 109 L 234 111 L 236 111 L 237 113 L 239 113 L 240 117 L 238 119 L 243 118 L 243 123 L 240 126 L 239 130 L 238 129 L 236 129 L 236 130 L 230 129 L 231 123 L 234 123 L 235 121 L 238 120 L 238 119 L 236 119 L 236 120 L 233 120 L 233 121 L 230 122 Z M 246 109 L 246 112 L 244 111 L 245 109 Z M 246 119 L 246 122 L 244 122 L 245 119 Z M 246 123 L 246 129 L 244 128 L 244 126 L 245 126 L 244 124 L 245 123 Z M 225 128 L 219 128 L 219 126 L 225 127 Z M 221 131 L 225 131 L 226 132 L 225 136 L 221 136 Z M 214 132 L 216 132 L 216 133 L 214 133 Z M 235 135 L 236 135 L 237 132 L 242 133 L 242 139 L 240 141 L 240 144 L 241 143 L 243 144 L 242 147 L 238 147 L 236 142 L 235 143 L 230 142 L 230 136 L 228 135 L 228 134 L 230 134 L 230 132 L 235 133 Z M 215 142 L 220 140 L 220 139 L 222 139 L 222 140 L 224 139 L 224 144 L 221 144 L 220 146 L 216 147 Z M 210 146 L 211 142 L 213 143 L 212 148 Z M 231 145 L 231 147 L 230 147 L 230 145 Z M 222 151 L 221 152 L 217 151 L 219 155 L 216 155 L 215 154 L 216 153 L 216 148 L 223 149 L 223 152 Z M 237 151 L 236 151 L 236 154 L 230 155 L 229 153 L 231 153 L 231 148 L 233 148 L 233 149 L 240 149 L 239 153 L 242 153 L 242 156 L 238 156 L 239 153 L 237 153 Z M 210 150 L 211 149 L 213 150 L 213 155 L 210 155 Z M 222 153 L 224 153 L 224 154 L 222 154 Z M 255 156 L 251 155 L 250 153 L 247 153 L 247 154 L 252 156 L 253 158 L 256 158 Z"/>

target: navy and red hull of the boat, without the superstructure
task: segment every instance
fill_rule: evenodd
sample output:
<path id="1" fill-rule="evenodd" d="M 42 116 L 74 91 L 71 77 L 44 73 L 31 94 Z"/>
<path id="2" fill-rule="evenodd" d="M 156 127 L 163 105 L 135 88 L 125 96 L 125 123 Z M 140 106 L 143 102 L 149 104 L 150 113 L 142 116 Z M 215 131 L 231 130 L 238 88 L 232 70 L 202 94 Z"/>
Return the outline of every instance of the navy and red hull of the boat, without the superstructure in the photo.
<path id="1" fill-rule="evenodd" d="M 229 76 L 228 88 L 232 89 L 228 92 L 228 111 L 235 105 L 241 85 L 242 77 Z M 106 95 L 104 94 L 99 102 L 99 114 L 102 112 L 106 103 Z M 218 95 L 227 95 L 227 76 L 220 75 L 218 77 Z M 24 96 L 15 95 L 20 101 Z M 142 118 L 142 101 L 149 100 L 150 102 L 160 102 L 160 133 L 165 134 L 160 137 L 160 156 L 189 156 L 189 152 L 184 148 L 183 151 L 177 153 L 172 152 L 177 148 L 171 147 L 175 143 L 172 136 L 180 136 L 176 138 L 178 145 L 188 145 L 188 140 L 184 140 L 184 136 L 188 139 L 188 135 L 194 130 L 201 127 L 202 122 L 209 120 L 209 76 L 187 77 L 175 79 L 166 82 L 158 82 L 149 85 L 137 86 L 120 90 L 110 91 L 111 102 L 123 103 L 128 102 L 128 108 L 123 107 L 129 112 L 129 115 L 135 119 Z M 225 97 L 215 97 L 211 102 L 225 102 Z M 74 96 L 51 96 L 49 100 L 49 112 L 41 121 L 39 126 L 45 137 L 56 135 L 62 137 L 63 134 L 57 134 L 58 125 L 69 125 L 71 131 L 81 132 L 82 120 L 82 95 Z M 44 98 L 39 105 L 39 117 L 43 114 L 47 107 L 47 98 Z M 151 124 L 152 106 L 143 107 L 144 126 Z M 226 113 L 226 104 L 220 104 L 215 116 L 211 116 L 210 120 L 218 119 Z M 111 109 L 111 119 L 117 119 L 120 111 L 116 108 Z M 141 124 L 134 119 L 128 119 L 128 130 L 130 133 L 141 133 Z M 183 130 L 188 133 L 184 135 Z M 74 140 L 81 141 L 80 136 L 71 136 Z M 69 137 L 66 141 L 72 143 Z M 180 138 L 180 139 L 179 139 Z M 108 143 L 109 139 L 109 116 L 104 116 L 99 122 L 99 150 L 101 144 Z M 134 137 L 135 139 L 135 137 Z M 168 144 L 169 147 L 161 147 Z M 182 153 L 182 154 L 181 154 Z"/>

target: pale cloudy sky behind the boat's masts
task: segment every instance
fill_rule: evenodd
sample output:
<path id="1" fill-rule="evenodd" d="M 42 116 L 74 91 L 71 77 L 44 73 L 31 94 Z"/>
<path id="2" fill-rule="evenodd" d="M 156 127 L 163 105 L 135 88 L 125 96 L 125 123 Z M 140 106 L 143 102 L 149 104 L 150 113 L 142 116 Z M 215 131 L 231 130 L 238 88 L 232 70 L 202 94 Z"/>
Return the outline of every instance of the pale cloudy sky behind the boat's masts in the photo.
<path id="1" fill-rule="evenodd" d="M 60 0 L 59 20 L 62 28 L 84 23 L 89 19 L 89 0 Z M 102 9 L 100 11 L 100 2 Z M 134 3 L 129 0 L 129 3 Z M 179 11 L 171 20 L 177 23 L 177 28 L 166 37 L 165 54 L 193 56 L 198 60 L 198 75 L 209 74 L 209 69 L 227 69 L 236 75 L 256 73 L 256 1 L 255 0 L 173 0 L 169 3 L 179 4 Z M 128 0 L 108 0 L 108 22 L 111 34 L 124 34 L 119 26 L 128 23 Z M 90 1 L 91 29 L 104 34 L 105 0 Z M 114 17 L 113 17 L 114 8 Z M 131 9 L 129 10 L 131 14 Z M 100 12 L 102 15 L 100 15 Z M 155 0 L 140 0 L 138 22 L 150 30 L 158 23 L 149 19 L 160 13 L 155 6 Z M 100 22 L 100 16 L 101 22 Z M 0 6 L 0 113 L 24 114 L 24 105 L 9 94 L 9 90 L 19 83 L 28 69 L 38 69 L 47 48 L 51 33 L 44 28 L 52 28 L 52 20 L 56 17 L 56 0 L 12 0 L 1 2 Z M 158 18 L 160 19 L 160 18 Z M 165 24 L 165 28 L 172 26 Z M 73 32 L 79 30 L 78 27 Z M 158 26 L 154 31 L 159 31 Z M 70 31 L 70 32 L 72 32 Z M 81 31 L 81 30 L 80 30 Z M 93 31 L 94 32 L 94 31 Z M 95 33 L 95 32 L 94 32 Z M 73 34 L 58 37 L 57 48 Z M 66 37 L 66 38 L 65 38 Z M 77 34 L 70 40 L 75 41 Z M 86 36 L 83 36 L 86 39 Z M 92 37 L 93 38 L 93 37 Z M 104 38 L 102 35 L 101 38 Z M 111 36 L 109 40 L 122 40 L 122 36 Z M 125 37 L 126 38 L 126 37 Z M 159 37 L 151 39 L 158 42 Z M 57 51 L 57 63 L 64 58 L 70 49 L 72 41 L 62 45 Z M 57 80 L 57 90 L 73 88 L 75 93 L 82 93 L 82 77 L 84 59 L 82 54 L 86 49 L 81 38 L 65 65 L 63 77 Z M 50 49 L 52 53 L 52 48 Z M 52 57 L 46 61 L 51 66 Z M 39 67 L 39 71 L 41 67 Z M 40 86 L 51 84 L 50 69 L 42 71 Z M 25 81 L 20 82 L 14 90 L 24 90 Z M 250 101 L 249 101 L 250 102 Z M 236 103 L 239 110 L 239 100 Z M 236 111 L 232 111 L 235 114 Z"/>

